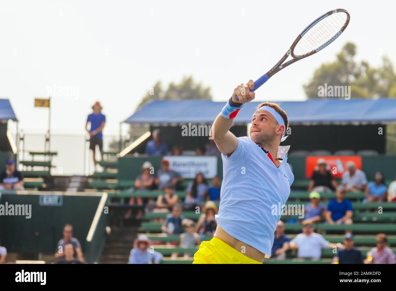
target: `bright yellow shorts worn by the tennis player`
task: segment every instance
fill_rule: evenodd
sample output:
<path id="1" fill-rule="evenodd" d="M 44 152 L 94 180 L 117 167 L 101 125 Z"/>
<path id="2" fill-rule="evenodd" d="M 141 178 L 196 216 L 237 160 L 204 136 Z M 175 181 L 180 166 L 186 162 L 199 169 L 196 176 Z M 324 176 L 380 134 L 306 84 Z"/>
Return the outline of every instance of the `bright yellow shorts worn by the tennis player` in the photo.
<path id="1" fill-rule="evenodd" d="M 262 264 L 255 261 L 222 240 L 213 237 L 209 242 L 202 242 L 194 255 L 193 264 Z"/>

